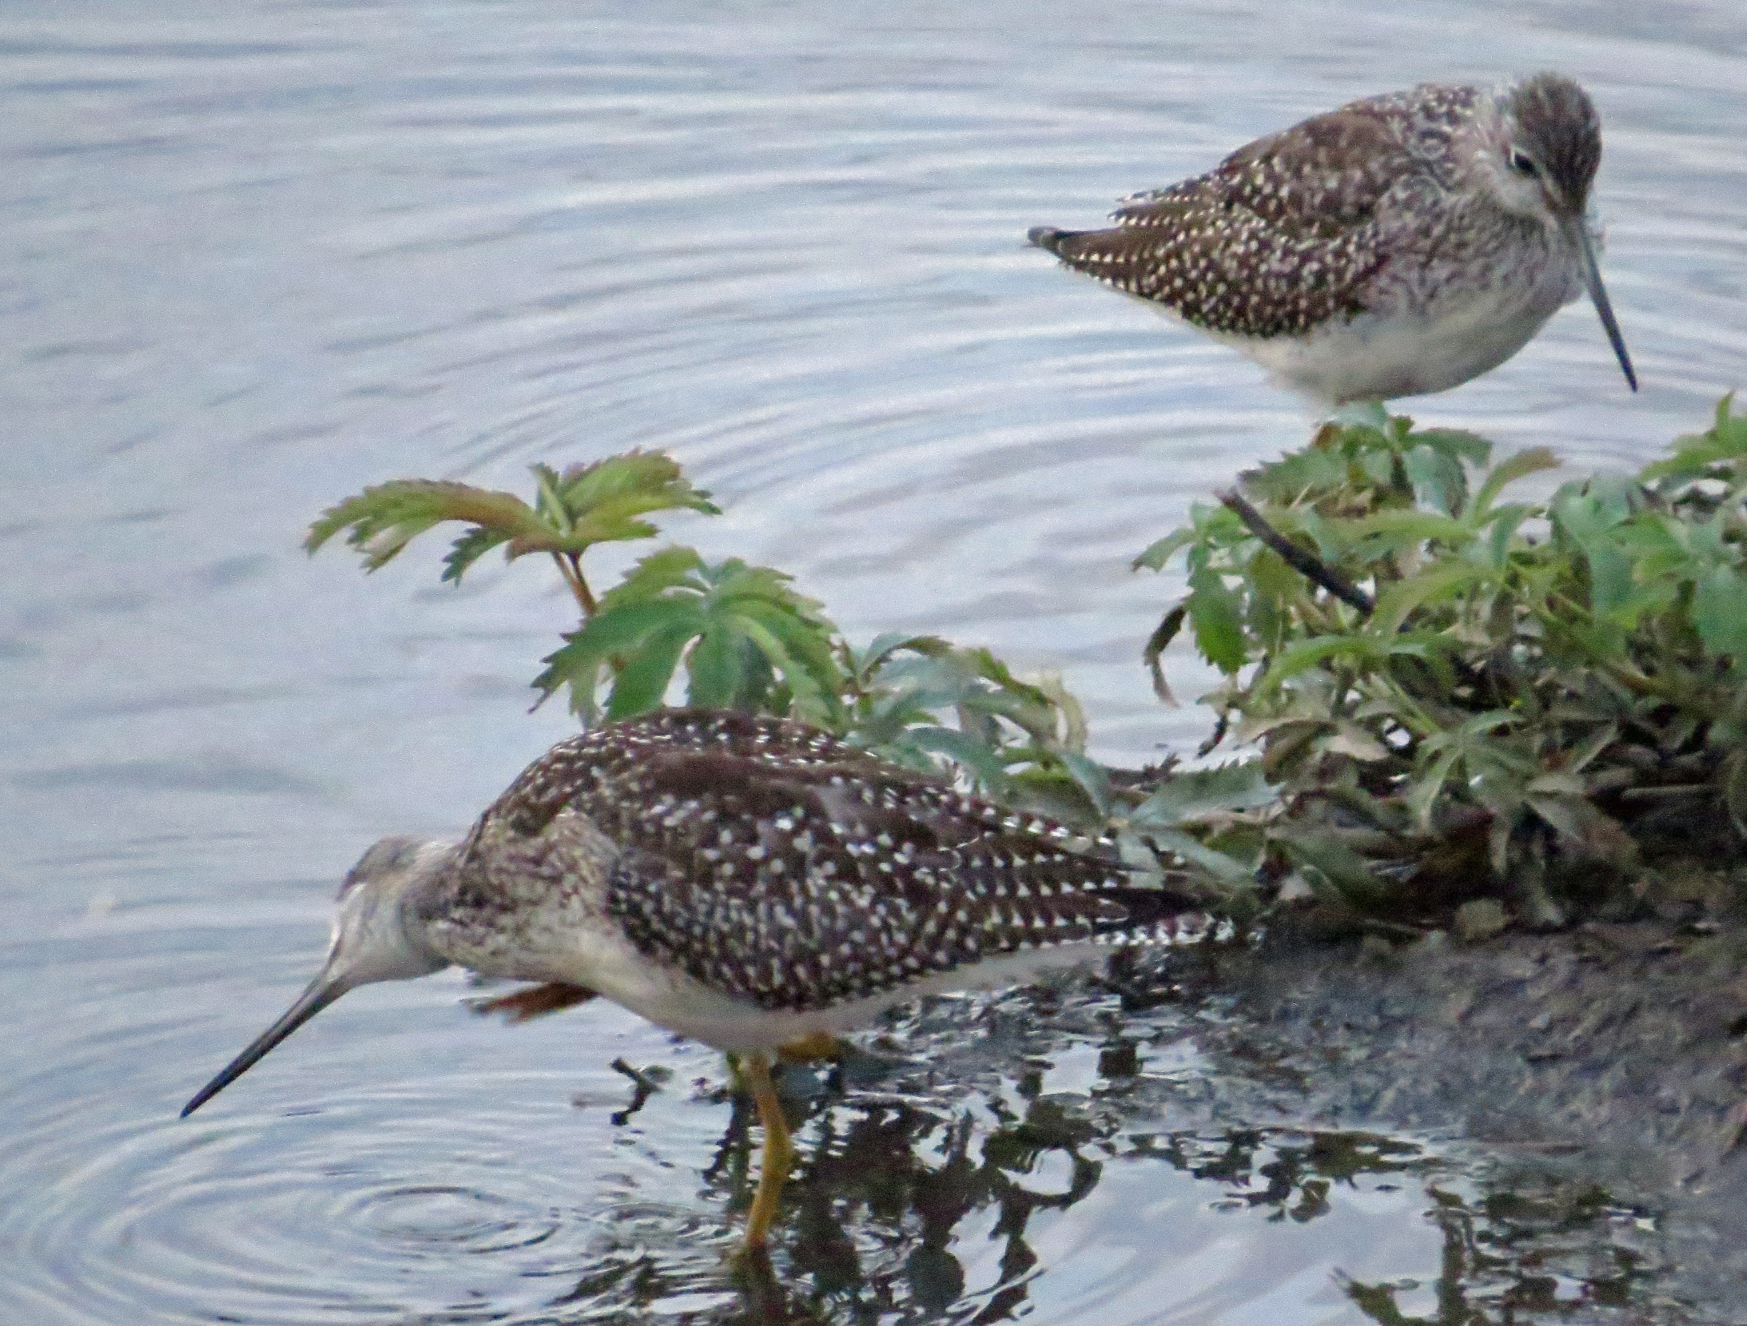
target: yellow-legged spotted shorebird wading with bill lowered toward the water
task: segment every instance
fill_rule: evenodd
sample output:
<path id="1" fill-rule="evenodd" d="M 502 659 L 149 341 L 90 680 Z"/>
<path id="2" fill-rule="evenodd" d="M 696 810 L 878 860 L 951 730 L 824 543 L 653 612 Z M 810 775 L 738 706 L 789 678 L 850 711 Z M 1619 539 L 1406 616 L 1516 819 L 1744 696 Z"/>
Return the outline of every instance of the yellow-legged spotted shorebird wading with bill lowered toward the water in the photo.
<path id="1" fill-rule="evenodd" d="M 321 971 L 182 1116 L 356 985 L 451 964 L 547 982 L 494 1001 L 522 1017 L 601 994 L 735 1057 L 763 1125 L 758 1253 L 791 1162 L 774 1057 L 1195 921 L 1106 840 L 802 723 L 660 711 L 561 741 L 459 842 L 372 846 Z"/>

